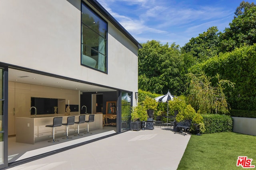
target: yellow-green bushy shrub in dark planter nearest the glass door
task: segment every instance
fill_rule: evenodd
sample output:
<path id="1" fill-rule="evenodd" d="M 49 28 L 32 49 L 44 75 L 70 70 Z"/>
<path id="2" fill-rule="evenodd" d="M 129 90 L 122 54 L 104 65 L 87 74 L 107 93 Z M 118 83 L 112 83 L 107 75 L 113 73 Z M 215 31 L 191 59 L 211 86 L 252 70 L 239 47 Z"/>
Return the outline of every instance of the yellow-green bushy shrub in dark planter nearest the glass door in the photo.
<path id="1" fill-rule="evenodd" d="M 146 121 L 148 119 L 146 108 L 142 104 L 132 107 L 131 118 L 132 121 Z"/>

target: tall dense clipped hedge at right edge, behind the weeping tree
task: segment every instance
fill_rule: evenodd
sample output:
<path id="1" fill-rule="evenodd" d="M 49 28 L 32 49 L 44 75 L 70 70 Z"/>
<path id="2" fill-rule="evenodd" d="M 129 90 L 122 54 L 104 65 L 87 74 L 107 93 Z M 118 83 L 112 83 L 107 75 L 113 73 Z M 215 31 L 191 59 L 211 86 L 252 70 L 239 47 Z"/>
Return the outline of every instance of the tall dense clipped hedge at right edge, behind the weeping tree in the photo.
<path id="1" fill-rule="evenodd" d="M 256 44 L 220 54 L 190 69 L 196 74 L 200 70 L 208 76 L 221 74 L 223 79 L 236 84 L 236 88 L 226 86 L 225 92 L 232 109 L 256 110 Z"/>

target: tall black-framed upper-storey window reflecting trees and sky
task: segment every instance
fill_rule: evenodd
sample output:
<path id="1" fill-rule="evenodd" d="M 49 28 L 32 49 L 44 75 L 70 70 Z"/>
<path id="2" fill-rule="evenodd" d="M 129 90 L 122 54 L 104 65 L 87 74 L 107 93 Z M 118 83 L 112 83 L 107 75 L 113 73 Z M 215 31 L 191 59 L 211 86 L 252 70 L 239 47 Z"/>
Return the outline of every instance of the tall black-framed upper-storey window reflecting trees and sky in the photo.
<path id="1" fill-rule="evenodd" d="M 82 4 L 81 64 L 107 72 L 107 23 Z"/>

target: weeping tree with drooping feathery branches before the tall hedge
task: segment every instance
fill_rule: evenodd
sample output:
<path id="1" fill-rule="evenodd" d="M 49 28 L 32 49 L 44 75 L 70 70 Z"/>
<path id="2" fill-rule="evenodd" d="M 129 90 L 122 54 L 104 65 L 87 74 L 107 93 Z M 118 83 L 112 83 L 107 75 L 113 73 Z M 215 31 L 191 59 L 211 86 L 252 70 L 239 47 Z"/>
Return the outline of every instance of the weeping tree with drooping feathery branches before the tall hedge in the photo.
<path id="1" fill-rule="evenodd" d="M 223 92 L 224 85 L 234 87 L 234 84 L 229 80 L 220 80 L 220 75 L 217 73 L 216 86 L 212 86 L 212 77 L 206 76 L 204 72 L 200 74 L 187 74 L 189 82 L 189 103 L 202 114 L 206 113 L 228 113 L 228 103 Z"/>

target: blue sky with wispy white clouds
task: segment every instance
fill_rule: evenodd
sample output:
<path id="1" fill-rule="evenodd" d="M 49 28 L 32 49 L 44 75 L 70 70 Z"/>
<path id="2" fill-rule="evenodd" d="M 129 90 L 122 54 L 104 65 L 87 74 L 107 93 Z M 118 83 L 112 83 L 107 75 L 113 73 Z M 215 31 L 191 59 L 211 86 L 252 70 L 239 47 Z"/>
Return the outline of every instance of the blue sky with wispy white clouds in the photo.
<path id="1" fill-rule="evenodd" d="M 245 0 L 246 1 L 246 0 Z M 254 2 L 256 0 L 247 0 Z M 139 42 L 152 39 L 184 46 L 217 26 L 223 32 L 242 0 L 98 0 Z"/>

